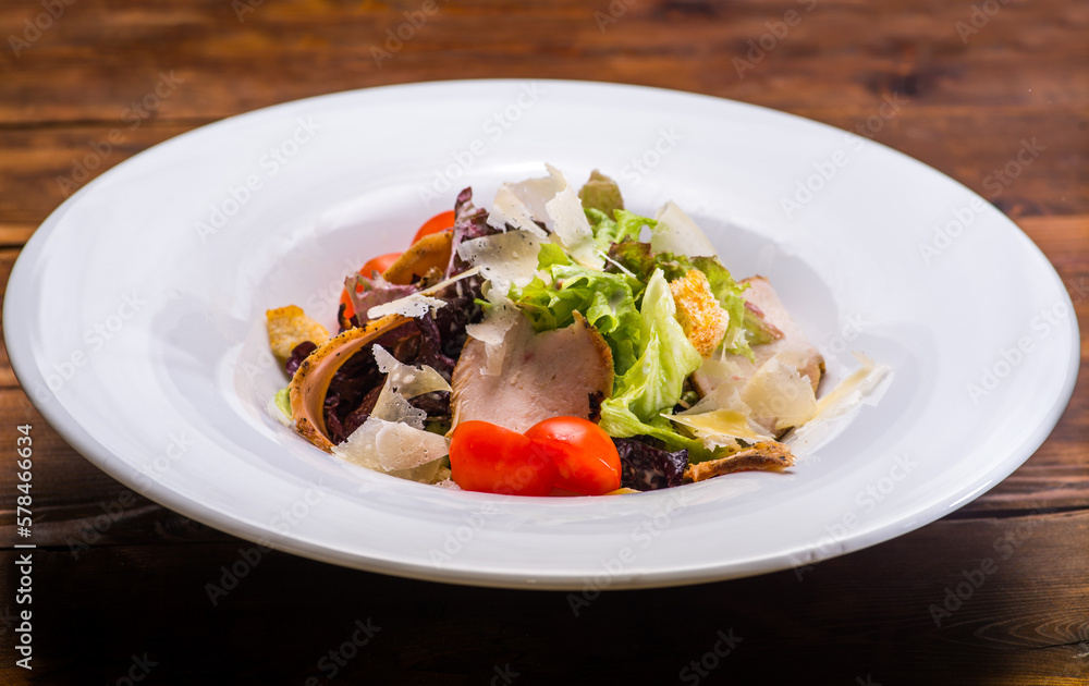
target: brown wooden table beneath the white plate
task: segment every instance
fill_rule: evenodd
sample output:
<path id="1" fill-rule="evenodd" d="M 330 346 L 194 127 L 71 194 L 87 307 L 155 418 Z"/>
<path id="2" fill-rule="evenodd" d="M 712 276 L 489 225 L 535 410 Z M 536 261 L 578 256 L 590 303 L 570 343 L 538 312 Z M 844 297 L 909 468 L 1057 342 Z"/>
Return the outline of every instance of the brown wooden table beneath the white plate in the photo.
<path id="1" fill-rule="evenodd" d="M 386 45 L 405 12 L 418 21 L 424 10 L 409 40 Z M 196 126 L 380 84 L 556 77 L 711 94 L 858 130 L 1006 212 L 1055 265 L 1082 330 L 1089 321 L 1085 1 L 9 0 L 0 27 L 0 283 L 65 193 Z M 874 117 L 886 101 L 894 115 Z M 1039 156 L 1018 168 L 1033 140 Z M 97 169 L 81 172 L 74 160 L 96 146 Z M 563 592 L 412 581 L 286 553 L 261 556 L 213 607 L 206 585 L 250 543 L 91 466 L 0 355 L 0 675 L 28 674 L 13 666 L 11 446 L 29 422 L 39 683 L 1085 684 L 1084 376 L 1043 446 L 940 522 L 811 568 L 604 592 L 576 617 Z M 987 559 L 996 568 L 986 583 L 935 621 Z"/>

